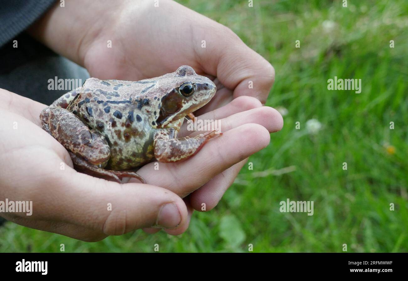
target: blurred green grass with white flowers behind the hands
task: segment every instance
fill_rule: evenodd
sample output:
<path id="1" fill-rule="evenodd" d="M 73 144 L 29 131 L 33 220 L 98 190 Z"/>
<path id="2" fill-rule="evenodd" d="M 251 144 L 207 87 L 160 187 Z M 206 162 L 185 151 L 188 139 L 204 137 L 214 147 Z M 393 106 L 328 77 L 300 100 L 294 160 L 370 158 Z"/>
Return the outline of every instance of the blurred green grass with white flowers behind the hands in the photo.
<path id="1" fill-rule="evenodd" d="M 59 252 L 60 244 L 66 252 L 153 252 L 154 244 L 160 252 L 248 252 L 248 244 L 254 252 L 342 252 L 343 244 L 407 252 L 408 2 L 178 2 L 230 27 L 273 64 L 267 105 L 286 109 L 283 130 L 180 236 L 135 231 L 86 243 L 7 223 L 0 252 Z M 361 93 L 328 91 L 334 76 L 361 79 Z M 309 119 L 322 124 L 314 134 Z M 280 213 L 286 198 L 314 201 L 314 215 Z"/>

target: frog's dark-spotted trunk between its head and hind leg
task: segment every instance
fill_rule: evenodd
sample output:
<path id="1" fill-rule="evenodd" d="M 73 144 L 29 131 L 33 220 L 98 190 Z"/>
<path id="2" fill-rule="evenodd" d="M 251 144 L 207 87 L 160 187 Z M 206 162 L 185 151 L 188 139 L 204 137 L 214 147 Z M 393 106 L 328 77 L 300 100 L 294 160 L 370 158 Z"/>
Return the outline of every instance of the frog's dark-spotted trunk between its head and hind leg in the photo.
<path id="1" fill-rule="evenodd" d="M 130 169 L 154 159 L 154 130 L 146 115 L 149 102 L 140 94 L 150 85 L 154 83 L 90 78 L 69 104 L 68 110 L 108 141 L 111 157 L 106 168 Z"/>

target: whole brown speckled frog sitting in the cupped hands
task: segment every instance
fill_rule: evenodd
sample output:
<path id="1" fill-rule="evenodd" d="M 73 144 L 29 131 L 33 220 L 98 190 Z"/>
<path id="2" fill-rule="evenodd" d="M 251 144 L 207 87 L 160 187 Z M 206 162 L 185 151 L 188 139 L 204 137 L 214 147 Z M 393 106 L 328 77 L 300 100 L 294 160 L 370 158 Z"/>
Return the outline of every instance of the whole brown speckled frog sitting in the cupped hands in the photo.
<path id="1" fill-rule="evenodd" d="M 193 119 L 216 91 L 213 81 L 191 66 L 140 81 L 89 78 L 44 108 L 40 121 L 67 149 L 77 171 L 146 183 L 136 173 L 143 165 L 186 160 L 220 135 L 177 138 L 186 116 Z"/>

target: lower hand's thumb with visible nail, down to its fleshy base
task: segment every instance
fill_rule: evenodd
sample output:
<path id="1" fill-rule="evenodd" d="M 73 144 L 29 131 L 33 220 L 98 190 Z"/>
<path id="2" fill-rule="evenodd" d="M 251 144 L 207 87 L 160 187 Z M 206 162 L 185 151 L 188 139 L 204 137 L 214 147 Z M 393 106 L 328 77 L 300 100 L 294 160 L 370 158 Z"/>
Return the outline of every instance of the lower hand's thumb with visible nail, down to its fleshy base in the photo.
<path id="1" fill-rule="evenodd" d="M 71 168 L 65 171 L 66 174 L 60 175 L 62 180 L 56 180 L 57 188 L 47 192 L 41 192 L 40 188 L 38 192 L 43 196 L 33 200 L 33 209 L 38 210 L 35 213 L 38 217 L 33 218 L 47 217 L 47 220 L 84 226 L 106 235 L 121 235 L 156 225 L 176 228 L 187 219 L 183 200 L 161 187 L 121 185 Z M 48 205 L 45 213 L 44 208 L 35 208 L 44 205 Z"/>

